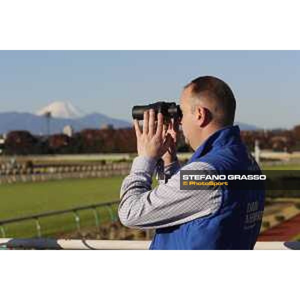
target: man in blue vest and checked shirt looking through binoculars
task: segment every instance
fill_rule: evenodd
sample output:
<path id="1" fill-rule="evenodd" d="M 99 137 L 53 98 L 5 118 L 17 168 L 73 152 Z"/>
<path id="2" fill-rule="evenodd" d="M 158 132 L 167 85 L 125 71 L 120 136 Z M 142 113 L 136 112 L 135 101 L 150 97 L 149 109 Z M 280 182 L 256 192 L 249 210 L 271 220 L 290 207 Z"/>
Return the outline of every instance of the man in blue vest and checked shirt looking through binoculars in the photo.
<path id="1" fill-rule="evenodd" d="M 235 99 L 224 81 L 212 76 L 192 80 L 182 91 L 180 108 L 182 131 L 194 150 L 181 170 L 259 170 L 238 126 L 233 126 Z M 150 110 L 144 113 L 142 130 L 137 120 L 134 127 L 138 157 L 121 186 L 120 221 L 155 228 L 150 249 L 252 249 L 261 224 L 263 190 L 180 190 L 174 122 L 165 131 L 162 114 L 155 124 Z M 152 189 L 160 157 L 168 180 Z"/>

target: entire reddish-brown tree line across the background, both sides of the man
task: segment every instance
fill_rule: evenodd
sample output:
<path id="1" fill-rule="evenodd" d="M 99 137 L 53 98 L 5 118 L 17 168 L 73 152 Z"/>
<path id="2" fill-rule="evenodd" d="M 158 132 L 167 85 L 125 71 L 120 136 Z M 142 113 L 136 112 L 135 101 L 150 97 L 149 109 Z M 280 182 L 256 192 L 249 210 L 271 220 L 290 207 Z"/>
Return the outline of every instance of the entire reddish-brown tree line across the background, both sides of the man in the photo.
<path id="1" fill-rule="evenodd" d="M 255 140 L 260 148 L 278 151 L 300 149 L 300 125 L 292 130 L 241 131 L 242 140 L 250 150 Z M 190 150 L 179 132 L 178 151 Z M 136 152 L 136 137 L 132 128 L 84 129 L 71 137 L 66 134 L 36 136 L 28 131 L 8 132 L 3 153 L 7 155 L 27 154 L 80 154 L 80 153 L 133 153 Z"/>

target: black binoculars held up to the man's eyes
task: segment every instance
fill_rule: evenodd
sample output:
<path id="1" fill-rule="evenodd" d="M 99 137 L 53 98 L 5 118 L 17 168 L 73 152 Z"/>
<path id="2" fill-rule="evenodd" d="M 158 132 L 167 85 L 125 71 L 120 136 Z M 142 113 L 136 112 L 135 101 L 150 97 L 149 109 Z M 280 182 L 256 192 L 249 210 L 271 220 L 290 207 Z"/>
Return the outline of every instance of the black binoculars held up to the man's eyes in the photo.
<path id="1" fill-rule="evenodd" d="M 137 120 L 143 119 L 143 113 L 145 110 L 154 109 L 155 119 L 157 119 L 157 113 L 161 112 L 164 120 L 168 121 L 171 118 L 180 120 L 182 118 L 182 111 L 180 106 L 175 102 L 159 101 L 148 105 L 135 105 L 132 107 L 132 118 Z"/>

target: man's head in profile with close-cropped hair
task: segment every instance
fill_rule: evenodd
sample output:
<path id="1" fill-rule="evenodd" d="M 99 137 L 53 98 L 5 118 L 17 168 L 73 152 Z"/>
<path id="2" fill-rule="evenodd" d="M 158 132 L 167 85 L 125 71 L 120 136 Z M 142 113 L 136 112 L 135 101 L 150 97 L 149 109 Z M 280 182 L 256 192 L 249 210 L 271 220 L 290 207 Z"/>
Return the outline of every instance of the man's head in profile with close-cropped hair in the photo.
<path id="1" fill-rule="evenodd" d="M 183 88 L 180 107 L 183 134 L 192 149 L 234 121 L 234 95 L 230 87 L 216 77 L 202 76 L 188 83 Z"/>

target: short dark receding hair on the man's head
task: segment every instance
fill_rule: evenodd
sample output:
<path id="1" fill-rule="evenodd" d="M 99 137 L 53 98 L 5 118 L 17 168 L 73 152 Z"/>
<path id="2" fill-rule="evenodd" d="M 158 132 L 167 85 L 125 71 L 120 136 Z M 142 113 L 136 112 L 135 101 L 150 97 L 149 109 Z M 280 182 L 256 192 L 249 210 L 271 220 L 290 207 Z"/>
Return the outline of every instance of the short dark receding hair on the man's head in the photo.
<path id="1" fill-rule="evenodd" d="M 214 100 L 221 114 L 217 120 L 222 125 L 232 125 L 235 115 L 235 98 L 229 85 L 213 76 L 201 76 L 193 79 L 184 88 L 191 87 L 196 98 Z"/>

